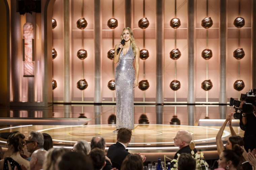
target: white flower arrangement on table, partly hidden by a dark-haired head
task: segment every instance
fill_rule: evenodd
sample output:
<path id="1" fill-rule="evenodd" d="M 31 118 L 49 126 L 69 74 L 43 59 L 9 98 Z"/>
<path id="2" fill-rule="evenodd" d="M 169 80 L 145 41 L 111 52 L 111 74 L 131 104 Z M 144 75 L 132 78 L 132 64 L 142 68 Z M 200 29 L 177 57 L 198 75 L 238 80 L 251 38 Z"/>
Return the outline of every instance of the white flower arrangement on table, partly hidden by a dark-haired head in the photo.
<path id="1" fill-rule="evenodd" d="M 171 162 L 175 162 L 175 164 L 173 165 L 173 168 L 171 168 L 171 170 L 177 170 L 178 169 L 178 160 L 179 160 L 180 155 L 181 154 L 178 154 L 177 159 L 171 160 Z M 207 162 L 205 160 L 200 159 L 200 154 L 194 153 L 194 151 L 192 150 L 191 155 L 196 160 L 196 170 L 201 170 L 202 166 L 209 167 L 209 165 L 207 164 Z"/>

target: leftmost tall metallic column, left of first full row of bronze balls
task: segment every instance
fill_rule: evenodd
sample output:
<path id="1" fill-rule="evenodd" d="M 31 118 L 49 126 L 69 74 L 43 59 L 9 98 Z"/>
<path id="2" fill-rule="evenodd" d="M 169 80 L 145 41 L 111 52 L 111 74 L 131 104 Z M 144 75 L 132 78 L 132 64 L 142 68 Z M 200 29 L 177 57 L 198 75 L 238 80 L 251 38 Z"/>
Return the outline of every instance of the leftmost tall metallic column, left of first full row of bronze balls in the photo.
<path id="1" fill-rule="evenodd" d="M 71 2 L 63 0 L 63 64 L 64 64 L 64 103 L 71 103 Z"/>

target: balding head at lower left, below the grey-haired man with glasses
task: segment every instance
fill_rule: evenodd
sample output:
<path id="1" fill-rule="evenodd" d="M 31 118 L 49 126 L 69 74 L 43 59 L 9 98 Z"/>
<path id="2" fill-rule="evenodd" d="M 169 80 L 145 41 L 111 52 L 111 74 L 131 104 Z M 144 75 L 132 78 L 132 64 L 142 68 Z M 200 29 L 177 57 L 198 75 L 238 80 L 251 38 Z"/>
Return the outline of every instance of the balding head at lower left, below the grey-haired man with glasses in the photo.
<path id="1" fill-rule="evenodd" d="M 30 169 L 40 170 L 43 168 L 43 162 L 46 158 L 47 151 L 44 149 L 35 150 L 31 155 Z"/>

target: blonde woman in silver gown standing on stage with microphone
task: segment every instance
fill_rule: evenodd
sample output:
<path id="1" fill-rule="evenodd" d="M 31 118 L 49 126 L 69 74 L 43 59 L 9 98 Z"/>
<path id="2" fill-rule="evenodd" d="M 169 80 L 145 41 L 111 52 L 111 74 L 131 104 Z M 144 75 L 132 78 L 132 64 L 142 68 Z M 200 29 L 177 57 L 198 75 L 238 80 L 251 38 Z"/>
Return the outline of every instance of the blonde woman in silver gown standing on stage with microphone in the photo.
<path id="1" fill-rule="evenodd" d="M 133 67 L 133 62 L 135 60 Z M 117 130 L 121 127 L 134 129 L 134 89 L 139 78 L 139 48 L 135 44 L 132 30 L 125 27 L 121 41 L 115 46 L 114 63 L 117 98 Z M 117 132 L 115 130 L 114 132 Z"/>

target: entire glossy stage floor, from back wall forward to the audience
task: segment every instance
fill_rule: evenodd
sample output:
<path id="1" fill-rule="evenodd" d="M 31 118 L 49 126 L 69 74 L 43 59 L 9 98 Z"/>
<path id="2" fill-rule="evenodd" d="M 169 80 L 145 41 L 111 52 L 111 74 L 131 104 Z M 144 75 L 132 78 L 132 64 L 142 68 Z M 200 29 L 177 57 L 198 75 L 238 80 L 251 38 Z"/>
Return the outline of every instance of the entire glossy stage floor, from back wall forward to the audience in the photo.
<path id="1" fill-rule="evenodd" d="M 72 148 L 77 140 L 84 139 L 90 142 L 93 136 L 101 136 L 106 140 L 106 152 L 111 144 L 116 143 L 117 133 L 113 130 L 116 125 L 108 122 L 113 115 L 114 106 L 57 106 L 53 110 L 2 110 L 5 114 L 0 117 L 0 145 L 6 149 L 6 137 L 9 132 L 20 131 L 27 138 L 31 130 L 48 133 L 52 136 L 54 147 Z M 82 107 L 82 113 L 77 111 Z M 101 107 L 98 113 L 97 107 Z M 195 112 L 184 111 L 179 113 L 181 125 L 170 125 L 173 118 L 171 106 L 136 106 L 145 108 L 148 113 L 137 111 L 134 113 L 135 126 L 132 130 L 132 140 L 127 149 L 130 153 L 143 153 L 148 161 L 157 160 L 158 157 L 172 158 L 178 147 L 174 146 L 173 138 L 179 130 L 188 130 L 192 134 L 197 150 L 203 150 L 205 158 L 207 153 L 218 159 L 216 149 L 216 134 L 225 120 L 225 115 L 216 114 L 219 107 L 212 106 L 215 112 L 204 113 L 204 106 L 196 106 Z M 155 107 L 155 109 L 154 109 Z M 189 107 L 182 107 L 188 108 Z M 228 109 L 228 108 L 225 108 Z M 91 110 L 89 112 L 89 110 Z M 136 110 L 136 109 L 135 109 Z M 159 113 L 158 110 L 162 112 Z M 210 109 L 209 109 L 210 111 Z M 79 113 L 80 112 L 80 113 Z M 58 114 L 57 114 L 58 113 Z M 145 124 L 139 124 L 141 115 L 147 117 Z M 177 114 L 178 115 L 178 114 Z M 212 119 L 209 119 L 212 118 Z M 243 137 L 244 131 L 239 128 L 239 120 L 233 119 L 232 125 L 237 133 Z M 223 143 L 230 136 L 228 126 L 223 133 Z M 209 157 L 209 159 L 211 159 Z"/>

